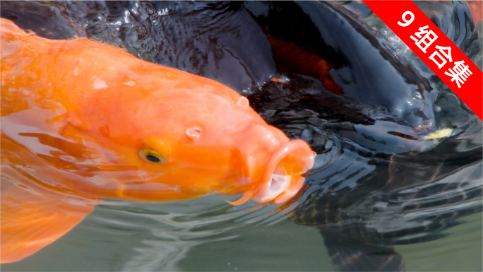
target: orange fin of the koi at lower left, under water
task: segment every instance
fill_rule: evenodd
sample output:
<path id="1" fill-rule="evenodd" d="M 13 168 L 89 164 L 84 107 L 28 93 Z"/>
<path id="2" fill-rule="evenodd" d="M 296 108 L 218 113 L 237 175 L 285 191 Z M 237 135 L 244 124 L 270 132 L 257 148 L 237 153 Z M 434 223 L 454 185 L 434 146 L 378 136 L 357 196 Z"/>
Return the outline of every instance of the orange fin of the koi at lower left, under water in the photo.
<path id="1" fill-rule="evenodd" d="M 10 172 L 10 173 L 8 173 Z M 8 175 L 13 174 L 13 175 Z M 38 184 L 20 184 L 11 167 L 1 172 L 0 263 L 20 261 L 59 239 L 99 200 L 63 194 Z M 20 177 L 20 179 L 25 177 Z"/>

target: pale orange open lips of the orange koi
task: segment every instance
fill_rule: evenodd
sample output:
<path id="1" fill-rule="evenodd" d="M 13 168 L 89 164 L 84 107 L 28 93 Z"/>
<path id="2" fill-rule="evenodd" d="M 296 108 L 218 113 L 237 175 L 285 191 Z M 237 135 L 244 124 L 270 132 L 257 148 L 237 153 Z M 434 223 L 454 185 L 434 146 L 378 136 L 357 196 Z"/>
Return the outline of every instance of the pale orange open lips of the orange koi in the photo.
<path id="1" fill-rule="evenodd" d="M 294 167 L 300 168 L 302 165 L 302 170 L 290 172 L 289 175 L 285 176 L 280 175 L 277 168 L 280 166 L 280 162 L 290 155 L 294 155 L 297 159 L 297 165 L 294 165 Z M 273 200 L 279 203 L 290 199 L 297 194 L 297 191 L 303 185 L 302 173 L 314 166 L 315 155 L 316 153 L 302 140 L 295 139 L 283 143 L 268 159 L 261 177 L 261 183 L 254 190 L 252 199 L 260 203 Z"/>

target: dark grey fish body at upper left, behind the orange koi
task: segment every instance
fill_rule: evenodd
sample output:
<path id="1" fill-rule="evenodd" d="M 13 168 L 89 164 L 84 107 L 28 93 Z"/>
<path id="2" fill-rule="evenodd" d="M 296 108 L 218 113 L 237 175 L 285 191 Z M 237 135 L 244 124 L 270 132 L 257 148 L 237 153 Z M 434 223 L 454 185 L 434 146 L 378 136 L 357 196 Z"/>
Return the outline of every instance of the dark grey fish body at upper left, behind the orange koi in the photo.
<path id="1" fill-rule="evenodd" d="M 12 1 L 2 2 L 0 16 L 49 39 L 76 35 L 121 45 L 141 59 L 214 79 L 246 95 L 270 81 L 276 67 L 268 40 L 241 4 Z"/>

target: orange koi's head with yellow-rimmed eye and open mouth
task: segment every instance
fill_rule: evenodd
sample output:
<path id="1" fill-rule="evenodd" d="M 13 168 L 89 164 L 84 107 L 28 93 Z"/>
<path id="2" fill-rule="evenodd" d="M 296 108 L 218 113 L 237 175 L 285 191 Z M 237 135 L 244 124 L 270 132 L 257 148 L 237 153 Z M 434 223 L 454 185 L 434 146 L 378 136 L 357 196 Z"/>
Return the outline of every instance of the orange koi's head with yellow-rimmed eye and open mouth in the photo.
<path id="1" fill-rule="evenodd" d="M 244 193 L 238 204 L 281 202 L 299 191 L 314 163 L 307 143 L 290 141 L 225 85 L 160 67 L 94 76 L 92 84 L 102 88 L 76 112 L 76 127 L 95 136 L 97 150 L 105 148 L 102 160 L 133 169 L 115 178 L 117 196 Z"/>

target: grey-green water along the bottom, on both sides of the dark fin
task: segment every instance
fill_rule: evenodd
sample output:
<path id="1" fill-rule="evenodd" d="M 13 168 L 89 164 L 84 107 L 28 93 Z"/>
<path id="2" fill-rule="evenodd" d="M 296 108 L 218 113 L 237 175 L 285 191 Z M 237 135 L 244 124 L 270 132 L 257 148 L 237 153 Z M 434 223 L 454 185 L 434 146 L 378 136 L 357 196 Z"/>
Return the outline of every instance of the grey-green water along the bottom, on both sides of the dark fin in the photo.
<path id="1" fill-rule="evenodd" d="M 100 206 L 60 240 L 1 269 L 333 271 L 323 238 L 314 227 L 283 218 L 263 223 L 266 216 L 247 211 L 217 219 L 179 220 L 181 215 L 193 216 L 199 210 L 230 208 L 224 199 L 208 196 L 182 205 L 153 204 L 144 206 L 151 213 L 143 215 Z M 199 210 L 186 213 L 189 206 Z M 482 271 L 482 213 L 463 220 L 465 224 L 446 231 L 451 234 L 448 237 L 396 246 L 407 271 Z"/>

